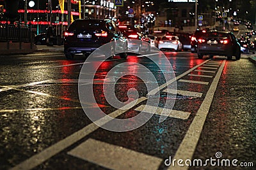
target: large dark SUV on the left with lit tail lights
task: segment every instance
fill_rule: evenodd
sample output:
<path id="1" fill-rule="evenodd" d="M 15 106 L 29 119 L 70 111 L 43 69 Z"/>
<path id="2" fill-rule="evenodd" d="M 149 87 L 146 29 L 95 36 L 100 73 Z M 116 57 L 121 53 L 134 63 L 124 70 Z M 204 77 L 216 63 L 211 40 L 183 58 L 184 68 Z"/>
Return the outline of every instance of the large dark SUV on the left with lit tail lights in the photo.
<path id="1" fill-rule="evenodd" d="M 77 53 L 88 55 L 106 43 L 115 43 L 106 56 L 119 53 L 121 58 L 127 57 L 127 38 L 111 20 L 78 19 L 72 22 L 64 33 L 64 53 L 67 59 Z"/>

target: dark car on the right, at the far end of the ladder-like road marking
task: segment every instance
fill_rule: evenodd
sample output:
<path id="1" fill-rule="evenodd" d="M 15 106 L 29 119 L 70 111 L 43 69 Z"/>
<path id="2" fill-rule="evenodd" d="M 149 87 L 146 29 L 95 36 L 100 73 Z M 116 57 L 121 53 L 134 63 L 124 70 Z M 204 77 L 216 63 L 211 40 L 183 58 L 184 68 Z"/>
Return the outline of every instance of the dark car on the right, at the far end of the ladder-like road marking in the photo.
<path id="1" fill-rule="evenodd" d="M 198 39 L 198 58 L 202 59 L 204 55 L 210 58 L 214 55 L 227 56 L 228 60 L 232 56 L 236 59 L 241 58 L 241 46 L 232 32 L 209 31 Z"/>

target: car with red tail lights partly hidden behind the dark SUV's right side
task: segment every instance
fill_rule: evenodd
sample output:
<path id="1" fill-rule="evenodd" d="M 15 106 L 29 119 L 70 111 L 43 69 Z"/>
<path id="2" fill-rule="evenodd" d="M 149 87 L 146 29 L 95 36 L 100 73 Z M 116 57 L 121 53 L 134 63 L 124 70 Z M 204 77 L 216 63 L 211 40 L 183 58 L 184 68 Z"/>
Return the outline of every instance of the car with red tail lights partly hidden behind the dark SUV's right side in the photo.
<path id="1" fill-rule="evenodd" d="M 150 52 L 150 38 L 141 27 L 136 25 L 119 25 L 120 31 L 128 38 L 128 51 L 132 53 Z M 136 39 L 138 41 L 133 41 Z"/>

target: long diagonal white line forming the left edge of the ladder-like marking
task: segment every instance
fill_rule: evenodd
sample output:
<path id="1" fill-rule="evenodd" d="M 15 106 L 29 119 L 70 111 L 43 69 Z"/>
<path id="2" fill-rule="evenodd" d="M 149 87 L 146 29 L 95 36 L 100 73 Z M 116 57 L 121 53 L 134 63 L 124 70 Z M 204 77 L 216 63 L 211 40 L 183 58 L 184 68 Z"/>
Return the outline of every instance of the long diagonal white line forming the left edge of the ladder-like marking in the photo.
<path id="1" fill-rule="evenodd" d="M 161 85 L 159 88 L 156 88 L 154 90 L 151 90 L 147 96 L 150 95 L 154 95 L 156 94 L 159 90 L 164 89 L 167 85 L 170 85 L 171 83 L 173 83 L 174 81 L 179 80 L 180 78 L 182 78 L 183 76 L 186 76 L 186 74 L 190 73 L 191 71 L 193 71 L 194 69 L 196 69 L 197 67 L 202 66 L 203 64 L 205 64 L 206 62 L 208 62 L 209 60 L 205 60 L 204 62 L 202 62 L 201 64 L 196 65 L 195 67 L 192 67 L 191 69 L 189 69 L 188 71 L 180 74 L 179 76 L 176 76 L 176 78 L 173 78 L 172 80 L 169 80 L 168 82 L 164 83 L 163 85 Z M 147 97 L 140 97 L 139 99 L 136 100 L 137 104 L 141 103 L 142 101 L 145 101 L 147 99 Z M 129 104 L 125 105 L 125 107 L 127 107 Z M 131 103 L 131 106 L 134 106 L 134 103 Z M 127 109 L 129 110 L 129 109 Z M 120 109 L 120 110 L 116 110 L 113 111 L 112 113 L 109 114 L 109 116 L 115 118 L 118 117 L 119 115 L 122 115 L 122 113 L 125 113 L 124 108 Z M 103 124 L 104 122 L 102 122 L 102 120 L 104 120 L 103 118 L 100 118 L 99 122 L 100 124 Z M 105 120 L 106 121 L 106 120 Z M 99 122 L 97 124 L 99 124 Z M 105 124 L 107 123 L 107 121 L 105 122 Z M 83 129 L 74 132 L 74 134 L 71 134 L 70 136 L 68 136 L 65 139 L 62 139 L 61 141 L 59 141 L 58 143 L 55 143 L 54 145 L 49 146 L 48 148 L 46 148 L 45 150 L 43 150 L 40 153 L 37 153 L 36 155 L 33 155 L 32 157 L 30 157 L 29 159 L 24 160 L 23 162 L 21 162 L 20 164 L 18 164 L 17 166 L 13 167 L 12 170 L 22 170 L 22 169 L 33 169 L 34 167 L 42 164 L 45 160 L 50 159 L 52 156 L 56 155 L 57 153 L 61 152 L 62 150 L 64 150 L 65 148 L 67 148 L 68 146 L 76 143 L 77 141 L 79 141 L 80 139 L 83 139 L 85 136 L 87 136 L 88 134 L 90 134 L 93 131 L 96 131 L 97 129 L 99 129 L 99 126 L 96 124 L 89 124 L 86 125 L 86 127 L 84 127 Z"/>

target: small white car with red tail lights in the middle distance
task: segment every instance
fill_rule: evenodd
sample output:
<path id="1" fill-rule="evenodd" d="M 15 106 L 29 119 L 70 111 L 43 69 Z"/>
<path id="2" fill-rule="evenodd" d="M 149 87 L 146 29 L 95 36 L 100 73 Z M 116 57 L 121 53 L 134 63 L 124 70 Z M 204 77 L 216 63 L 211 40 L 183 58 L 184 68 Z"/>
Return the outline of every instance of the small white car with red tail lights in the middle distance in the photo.
<path id="1" fill-rule="evenodd" d="M 166 35 L 159 41 L 158 48 L 160 50 L 175 50 L 175 52 L 182 50 L 182 43 L 179 41 L 179 37 Z"/>

